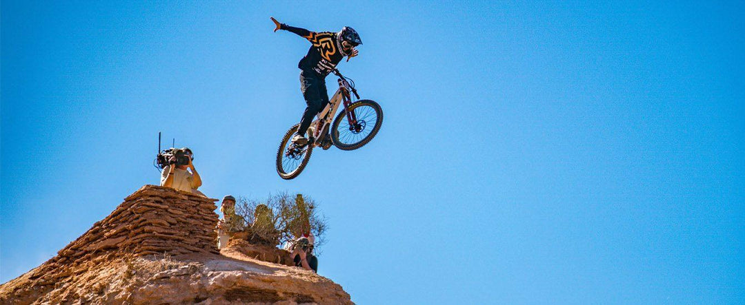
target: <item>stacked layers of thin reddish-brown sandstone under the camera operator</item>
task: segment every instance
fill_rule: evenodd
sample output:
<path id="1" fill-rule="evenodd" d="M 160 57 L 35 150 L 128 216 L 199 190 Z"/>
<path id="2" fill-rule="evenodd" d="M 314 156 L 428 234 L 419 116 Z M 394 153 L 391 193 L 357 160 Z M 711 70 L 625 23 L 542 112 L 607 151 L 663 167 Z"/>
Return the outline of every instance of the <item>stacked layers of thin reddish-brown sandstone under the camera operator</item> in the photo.
<path id="1" fill-rule="evenodd" d="M 55 270 L 69 269 L 108 252 L 135 256 L 219 253 L 215 245 L 215 201 L 169 187 L 145 185 L 57 252 L 57 257 L 31 274 L 31 279 L 54 283 L 69 275 Z"/>

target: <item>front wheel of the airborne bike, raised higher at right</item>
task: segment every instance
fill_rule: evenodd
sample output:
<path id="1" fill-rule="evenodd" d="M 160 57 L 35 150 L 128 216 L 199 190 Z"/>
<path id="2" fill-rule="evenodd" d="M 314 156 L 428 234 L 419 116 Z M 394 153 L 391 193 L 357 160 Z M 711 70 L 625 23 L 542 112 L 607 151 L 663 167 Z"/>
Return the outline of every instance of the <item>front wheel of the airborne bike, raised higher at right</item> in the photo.
<path id="1" fill-rule="evenodd" d="M 356 150 L 373 140 L 383 123 L 383 110 L 374 100 L 358 100 L 347 108 L 357 121 L 349 123 L 347 111 L 337 115 L 331 127 L 331 138 L 340 150 Z"/>

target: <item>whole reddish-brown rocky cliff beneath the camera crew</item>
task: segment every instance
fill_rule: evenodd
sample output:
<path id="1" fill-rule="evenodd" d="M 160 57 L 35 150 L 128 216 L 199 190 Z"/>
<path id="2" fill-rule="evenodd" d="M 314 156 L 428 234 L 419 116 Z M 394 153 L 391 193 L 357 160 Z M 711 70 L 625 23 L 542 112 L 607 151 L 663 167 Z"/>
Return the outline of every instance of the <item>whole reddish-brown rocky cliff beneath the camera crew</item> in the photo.
<path id="1" fill-rule="evenodd" d="M 216 199 L 146 185 L 30 272 L 0 304 L 351 304 L 331 280 L 282 251 L 215 247 Z"/>

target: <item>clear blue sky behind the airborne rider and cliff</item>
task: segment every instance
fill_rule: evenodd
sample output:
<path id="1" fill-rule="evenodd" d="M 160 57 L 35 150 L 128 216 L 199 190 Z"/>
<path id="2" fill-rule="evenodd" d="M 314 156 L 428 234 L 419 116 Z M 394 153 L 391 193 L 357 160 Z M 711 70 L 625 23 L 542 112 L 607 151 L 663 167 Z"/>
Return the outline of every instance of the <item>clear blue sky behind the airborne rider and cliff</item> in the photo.
<path id="1" fill-rule="evenodd" d="M 157 184 L 162 131 L 209 196 L 320 202 L 360 304 L 742 304 L 744 4 L 659 2 L 2 1 L 0 282 Z M 358 30 L 385 114 L 289 182 L 270 16 Z"/>

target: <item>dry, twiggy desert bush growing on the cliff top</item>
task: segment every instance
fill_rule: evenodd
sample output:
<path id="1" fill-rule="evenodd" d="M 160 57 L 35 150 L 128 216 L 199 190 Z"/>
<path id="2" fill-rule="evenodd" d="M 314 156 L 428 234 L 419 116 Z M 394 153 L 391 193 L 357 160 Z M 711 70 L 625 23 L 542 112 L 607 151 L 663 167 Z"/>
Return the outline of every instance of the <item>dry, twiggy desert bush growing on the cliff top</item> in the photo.
<path id="1" fill-rule="evenodd" d="M 302 194 L 277 193 L 263 201 L 240 196 L 235 203 L 235 214 L 246 219 L 249 238 L 256 234 L 273 245 L 288 243 L 294 240 L 303 223 L 308 222 L 316 238 L 316 251 L 326 242 L 326 217 L 318 212 L 313 199 Z"/>

